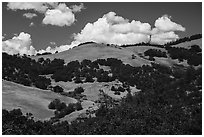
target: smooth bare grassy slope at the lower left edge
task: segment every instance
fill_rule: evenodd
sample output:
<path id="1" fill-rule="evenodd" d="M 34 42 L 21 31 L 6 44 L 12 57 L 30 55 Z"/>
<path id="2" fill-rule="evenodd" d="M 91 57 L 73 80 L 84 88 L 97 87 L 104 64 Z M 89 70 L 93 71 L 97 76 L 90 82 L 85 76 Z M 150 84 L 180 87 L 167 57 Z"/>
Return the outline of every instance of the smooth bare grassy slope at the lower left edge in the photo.
<path id="1" fill-rule="evenodd" d="M 48 109 L 48 104 L 56 98 L 67 104 L 76 102 L 73 98 L 48 90 L 2 81 L 2 108 L 8 110 L 20 108 L 24 113 L 32 113 L 37 119 L 48 119 L 54 115 L 54 112 Z"/>

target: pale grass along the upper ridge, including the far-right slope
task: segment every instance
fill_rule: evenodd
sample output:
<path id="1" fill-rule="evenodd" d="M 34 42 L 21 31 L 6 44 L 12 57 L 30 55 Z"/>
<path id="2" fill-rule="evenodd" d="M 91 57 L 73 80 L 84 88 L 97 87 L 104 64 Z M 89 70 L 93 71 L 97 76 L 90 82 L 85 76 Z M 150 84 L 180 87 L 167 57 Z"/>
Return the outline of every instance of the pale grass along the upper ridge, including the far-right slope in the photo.
<path id="1" fill-rule="evenodd" d="M 202 48 L 202 39 L 196 39 L 192 41 L 183 42 L 172 47 L 182 47 L 189 48 L 191 45 L 199 45 Z M 144 52 L 148 49 L 157 49 L 162 52 L 167 52 L 164 48 L 154 47 L 154 46 L 131 46 L 131 47 L 119 47 L 106 44 L 97 44 L 97 43 L 88 43 L 82 44 L 73 49 L 63 51 L 57 54 L 33 56 L 33 59 L 38 59 L 43 57 L 44 59 L 49 58 L 51 60 L 55 58 L 63 59 L 65 63 L 70 61 L 84 59 L 96 60 L 96 59 L 107 59 L 107 58 L 117 58 L 123 61 L 125 64 L 130 64 L 132 66 L 142 66 L 144 64 L 150 64 L 151 61 L 148 57 L 144 57 Z M 132 55 L 135 56 L 132 59 Z M 183 64 L 186 66 L 186 63 L 179 63 L 178 60 L 172 60 L 168 58 L 155 58 L 155 62 L 159 64 L 164 64 L 168 66 L 173 66 L 174 64 Z"/>

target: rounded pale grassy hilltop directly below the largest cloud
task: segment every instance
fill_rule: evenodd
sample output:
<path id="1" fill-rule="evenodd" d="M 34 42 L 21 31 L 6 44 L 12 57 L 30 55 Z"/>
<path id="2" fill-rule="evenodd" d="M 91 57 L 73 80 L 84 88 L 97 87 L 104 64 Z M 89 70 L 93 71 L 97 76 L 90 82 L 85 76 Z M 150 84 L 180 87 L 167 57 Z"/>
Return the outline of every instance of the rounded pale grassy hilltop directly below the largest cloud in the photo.
<path id="1" fill-rule="evenodd" d="M 64 59 L 66 63 L 70 61 L 79 60 L 82 61 L 84 59 L 88 60 L 96 60 L 96 59 L 106 59 L 106 58 L 117 58 L 122 60 L 125 64 L 131 64 L 133 66 L 142 66 L 143 64 L 150 64 L 150 61 L 139 57 L 135 54 L 136 59 L 132 59 L 132 55 L 135 54 L 134 51 L 115 46 L 106 46 L 105 44 L 84 44 L 78 47 L 74 47 L 71 50 L 67 50 L 64 52 L 60 52 L 57 54 L 51 55 L 43 55 L 43 56 L 35 56 L 32 57 L 34 59 L 38 58 L 50 58 L 53 60 L 54 58 Z"/>

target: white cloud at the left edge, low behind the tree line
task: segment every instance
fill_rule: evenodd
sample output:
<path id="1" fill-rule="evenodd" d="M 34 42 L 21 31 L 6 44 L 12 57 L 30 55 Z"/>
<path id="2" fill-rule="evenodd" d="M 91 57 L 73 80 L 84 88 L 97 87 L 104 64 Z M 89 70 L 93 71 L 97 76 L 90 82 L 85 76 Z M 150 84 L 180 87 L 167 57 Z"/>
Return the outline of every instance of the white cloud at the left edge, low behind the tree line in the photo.
<path id="1" fill-rule="evenodd" d="M 35 48 L 32 46 L 31 35 L 21 32 L 18 36 L 14 36 L 12 39 L 2 41 L 2 51 L 8 54 L 36 54 Z"/>

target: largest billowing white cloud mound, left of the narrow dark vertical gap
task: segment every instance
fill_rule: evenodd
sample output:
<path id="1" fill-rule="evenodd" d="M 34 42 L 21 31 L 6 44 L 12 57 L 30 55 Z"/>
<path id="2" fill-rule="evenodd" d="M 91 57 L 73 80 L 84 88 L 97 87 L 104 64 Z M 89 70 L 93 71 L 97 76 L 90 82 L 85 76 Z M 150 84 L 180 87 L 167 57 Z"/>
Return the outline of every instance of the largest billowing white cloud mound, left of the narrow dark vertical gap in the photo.
<path id="1" fill-rule="evenodd" d="M 147 42 L 151 26 L 140 21 L 131 21 L 109 12 L 94 23 L 88 23 L 74 38 L 79 42 L 95 41 L 109 44 L 134 44 Z"/>

